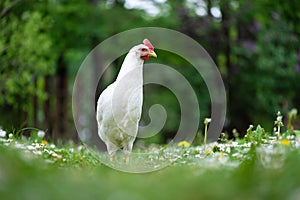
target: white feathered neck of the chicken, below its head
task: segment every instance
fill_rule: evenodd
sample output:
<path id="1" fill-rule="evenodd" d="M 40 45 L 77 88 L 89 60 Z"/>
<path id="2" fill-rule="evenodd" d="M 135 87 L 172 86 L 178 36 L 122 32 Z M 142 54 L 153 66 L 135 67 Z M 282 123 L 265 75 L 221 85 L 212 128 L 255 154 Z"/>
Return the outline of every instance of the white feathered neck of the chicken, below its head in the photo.
<path id="1" fill-rule="evenodd" d="M 129 52 L 124 59 L 116 81 L 120 81 L 122 78 L 143 81 L 143 64 L 144 61 L 141 58 L 137 57 L 135 53 Z"/>

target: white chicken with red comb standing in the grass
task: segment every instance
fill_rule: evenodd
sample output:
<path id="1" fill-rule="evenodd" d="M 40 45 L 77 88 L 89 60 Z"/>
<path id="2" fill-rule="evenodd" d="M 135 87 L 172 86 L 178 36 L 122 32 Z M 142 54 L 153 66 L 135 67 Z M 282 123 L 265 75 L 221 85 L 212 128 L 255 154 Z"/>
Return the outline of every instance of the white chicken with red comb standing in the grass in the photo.
<path id="1" fill-rule="evenodd" d="M 143 104 L 143 63 L 157 57 L 148 39 L 126 55 L 115 82 L 100 95 L 97 102 L 98 135 L 107 147 L 111 161 L 122 149 L 128 163 L 137 136 Z"/>

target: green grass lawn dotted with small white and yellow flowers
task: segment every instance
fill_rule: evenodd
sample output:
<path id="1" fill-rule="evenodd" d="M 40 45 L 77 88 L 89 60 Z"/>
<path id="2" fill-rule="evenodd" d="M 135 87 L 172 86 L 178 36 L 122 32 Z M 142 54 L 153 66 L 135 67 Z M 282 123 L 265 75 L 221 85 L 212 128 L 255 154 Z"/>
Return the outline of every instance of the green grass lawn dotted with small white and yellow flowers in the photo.
<path id="1" fill-rule="evenodd" d="M 113 170 L 84 146 L 38 137 L 0 141 L 1 199 L 300 199 L 300 133 L 258 126 L 243 139 L 172 146 L 168 167 Z M 146 149 L 153 153 L 160 146 Z M 140 150 L 135 150 L 138 152 Z M 160 154 L 163 156 L 163 154 Z M 162 159 L 159 157 L 158 159 Z"/>

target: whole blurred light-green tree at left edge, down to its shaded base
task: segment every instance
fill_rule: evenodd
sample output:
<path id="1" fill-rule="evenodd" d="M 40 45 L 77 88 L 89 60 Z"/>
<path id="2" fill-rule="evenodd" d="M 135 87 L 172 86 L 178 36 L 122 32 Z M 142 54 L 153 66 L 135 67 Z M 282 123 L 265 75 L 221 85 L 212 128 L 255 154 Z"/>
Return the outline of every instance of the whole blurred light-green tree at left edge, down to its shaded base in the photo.
<path id="1" fill-rule="evenodd" d="M 49 18 L 24 2 L 17 3 L 5 1 L 0 6 L 0 108 L 5 113 L 1 124 L 6 128 L 36 123 L 36 97 L 47 98 L 43 76 L 55 69 L 55 55 L 49 54 Z"/>

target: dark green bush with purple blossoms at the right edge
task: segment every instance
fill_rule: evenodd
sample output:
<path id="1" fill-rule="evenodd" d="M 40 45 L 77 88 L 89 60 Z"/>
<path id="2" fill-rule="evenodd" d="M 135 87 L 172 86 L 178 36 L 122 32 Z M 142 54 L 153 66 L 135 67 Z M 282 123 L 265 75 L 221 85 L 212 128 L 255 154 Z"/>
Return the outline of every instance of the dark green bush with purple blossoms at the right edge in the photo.
<path id="1" fill-rule="evenodd" d="M 298 106 L 295 97 L 300 78 L 296 69 L 299 37 L 295 25 L 284 18 L 285 13 L 278 12 L 275 5 L 265 9 L 267 2 L 271 3 L 253 3 L 252 14 L 242 16 L 247 20 L 241 19 L 240 26 L 250 34 L 238 40 L 233 48 L 238 71 L 230 80 L 238 85 L 233 91 L 234 101 L 241 103 L 253 123 L 270 121 L 283 104 Z"/>

